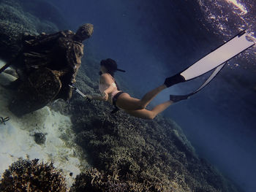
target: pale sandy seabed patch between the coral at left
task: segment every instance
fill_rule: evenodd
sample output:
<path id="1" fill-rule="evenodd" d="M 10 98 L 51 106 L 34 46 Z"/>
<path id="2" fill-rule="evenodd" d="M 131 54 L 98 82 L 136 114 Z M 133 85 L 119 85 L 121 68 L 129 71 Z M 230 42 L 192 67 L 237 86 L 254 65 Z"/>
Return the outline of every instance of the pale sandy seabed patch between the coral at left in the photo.
<path id="1" fill-rule="evenodd" d="M 3 65 L 0 61 L 0 68 Z M 39 158 L 44 163 L 53 161 L 66 175 L 67 185 L 72 185 L 75 176 L 89 165 L 81 160 L 84 157 L 75 145 L 70 118 L 50 107 L 16 117 L 7 107 L 13 93 L 2 86 L 12 80 L 15 80 L 12 75 L 0 74 L 0 117 L 10 117 L 5 125 L 0 124 L 0 180 L 4 170 L 19 158 Z M 35 133 L 46 135 L 45 144 L 37 145 Z"/>

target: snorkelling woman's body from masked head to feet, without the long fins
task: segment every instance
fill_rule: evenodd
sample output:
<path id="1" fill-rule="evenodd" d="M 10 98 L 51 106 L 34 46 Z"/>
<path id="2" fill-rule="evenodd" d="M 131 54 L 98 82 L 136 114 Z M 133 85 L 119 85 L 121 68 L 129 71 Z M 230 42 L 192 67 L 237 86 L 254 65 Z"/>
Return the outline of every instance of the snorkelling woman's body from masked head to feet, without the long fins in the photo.
<path id="1" fill-rule="evenodd" d="M 110 104 L 113 104 L 120 110 L 124 110 L 124 112 L 127 112 L 129 115 L 143 119 L 154 119 L 156 115 L 164 111 L 174 102 L 187 99 L 187 97 L 182 96 L 170 97 L 170 100 L 165 101 L 162 104 L 158 104 L 152 110 L 146 110 L 146 106 L 152 101 L 152 99 L 154 99 L 155 96 L 157 96 L 158 93 L 165 88 L 170 87 L 170 78 L 165 79 L 164 84 L 146 93 L 142 99 L 135 99 L 129 96 L 128 93 L 124 93 L 118 89 L 116 80 L 114 79 L 114 73 L 116 71 L 125 72 L 118 69 L 116 61 L 113 59 L 108 58 L 102 60 L 100 62 L 99 72 L 99 91 L 102 93 L 102 96 L 87 95 L 87 98 L 91 100 L 108 101 Z"/>

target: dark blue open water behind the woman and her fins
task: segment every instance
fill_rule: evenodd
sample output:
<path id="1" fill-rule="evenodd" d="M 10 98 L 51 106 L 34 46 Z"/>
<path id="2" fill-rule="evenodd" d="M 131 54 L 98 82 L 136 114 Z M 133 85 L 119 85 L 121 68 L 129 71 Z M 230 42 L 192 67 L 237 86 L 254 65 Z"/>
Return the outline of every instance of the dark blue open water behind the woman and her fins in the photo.
<path id="1" fill-rule="evenodd" d="M 73 31 L 94 24 L 89 40 L 99 58 L 113 58 L 140 96 L 181 72 L 242 29 L 255 33 L 256 2 L 226 0 L 51 1 Z M 47 18 L 47 12 L 42 12 Z M 256 191 L 256 50 L 230 61 L 203 91 L 174 104 L 165 115 L 184 130 L 197 153 L 244 191 Z M 205 77 L 175 85 L 157 96 L 188 93 Z"/>

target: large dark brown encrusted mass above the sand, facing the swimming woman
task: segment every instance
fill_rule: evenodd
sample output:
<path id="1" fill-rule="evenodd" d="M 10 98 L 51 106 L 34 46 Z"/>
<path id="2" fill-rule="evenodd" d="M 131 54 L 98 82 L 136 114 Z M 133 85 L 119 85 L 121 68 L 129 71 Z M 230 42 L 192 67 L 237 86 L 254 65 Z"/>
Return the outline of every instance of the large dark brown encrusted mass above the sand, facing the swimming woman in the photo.
<path id="1" fill-rule="evenodd" d="M 44 107 L 56 99 L 72 96 L 69 84 L 75 82 L 83 57 L 83 41 L 91 37 L 93 25 L 87 23 L 72 31 L 23 37 L 23 49 L 7 64 L 18 65 L 18 94 L 9 105 L 15 115 Z"/>

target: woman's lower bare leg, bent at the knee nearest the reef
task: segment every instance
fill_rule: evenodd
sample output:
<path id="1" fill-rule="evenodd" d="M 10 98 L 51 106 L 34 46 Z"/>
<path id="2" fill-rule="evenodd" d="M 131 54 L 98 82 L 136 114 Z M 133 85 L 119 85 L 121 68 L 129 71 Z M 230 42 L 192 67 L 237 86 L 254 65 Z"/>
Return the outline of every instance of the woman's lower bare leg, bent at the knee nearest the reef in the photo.
<path id="1" fill-rule="evenodd" d="M 135 116 L 136 118 L 143 119 L 154 119 L 160 112 L 164 111 L 167 107 L 173 104 L 173 101 L 165 101 L 162 104 L 158 104 L 153 110 L 125 110 L 129 115 Z"/>

